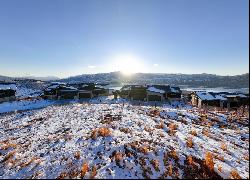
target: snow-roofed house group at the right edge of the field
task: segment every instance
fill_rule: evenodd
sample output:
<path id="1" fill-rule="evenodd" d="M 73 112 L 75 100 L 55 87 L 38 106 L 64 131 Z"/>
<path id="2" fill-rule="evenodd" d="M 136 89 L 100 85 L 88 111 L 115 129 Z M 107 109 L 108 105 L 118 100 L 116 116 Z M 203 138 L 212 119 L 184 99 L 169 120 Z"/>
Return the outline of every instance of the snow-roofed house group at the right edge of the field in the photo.
<path id="1" fill-rule="evenodd" d="M 249 105 L 249 95 L 242 93 L 194 91 L 191 97 L 192 105 L 197 107 L 236 108 Z"/>

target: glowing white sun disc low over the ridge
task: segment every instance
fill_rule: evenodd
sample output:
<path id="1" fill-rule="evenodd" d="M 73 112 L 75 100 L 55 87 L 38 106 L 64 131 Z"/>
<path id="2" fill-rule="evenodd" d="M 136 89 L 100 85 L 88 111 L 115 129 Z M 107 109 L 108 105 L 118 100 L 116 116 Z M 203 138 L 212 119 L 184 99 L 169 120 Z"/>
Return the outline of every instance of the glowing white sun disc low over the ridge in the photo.
<path id="1" fill-rule="evenodd" d="M 121 71 L 127 76 L 142 71 L 140 59 L 130 54 L 116 56 L 113 65 L 116 71 Z"/>

